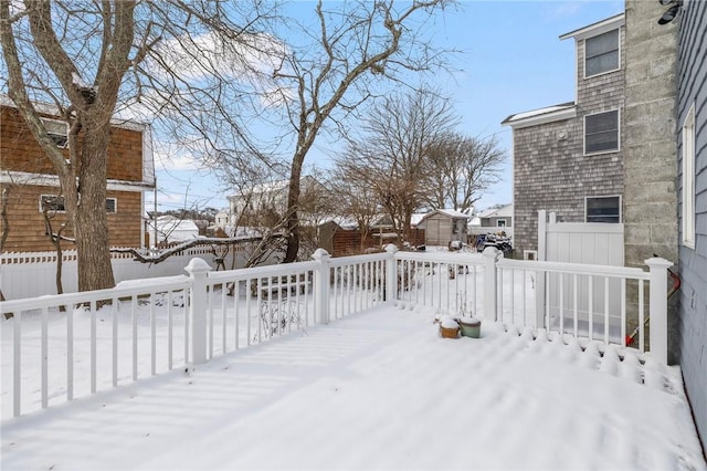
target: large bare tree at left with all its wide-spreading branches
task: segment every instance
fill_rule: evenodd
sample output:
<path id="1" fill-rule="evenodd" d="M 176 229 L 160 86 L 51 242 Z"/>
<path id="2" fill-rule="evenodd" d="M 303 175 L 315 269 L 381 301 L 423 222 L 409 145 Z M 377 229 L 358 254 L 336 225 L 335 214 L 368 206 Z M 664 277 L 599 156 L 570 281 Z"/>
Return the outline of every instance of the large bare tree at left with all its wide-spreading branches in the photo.
<path id="1" fill-rule="evenodd" d="M 114 285 L 105 211 L 112 118 L 141 111 L 202 125 L 229 83 L 218 72 L 249 62 L 244 48 L 257 43 L 253 31 L 261 4 L 0 0 L 1 65 L 8 76 L 2 86 L 59 177 L 76 239 L 81 291 Z M 214 44 L 218 51 L 209 48 Z M 200 74 L 176 51 L 188 51 Z M 210 76 L 220 87 L 209 86 L 204 77 Z M 41 119 L 43 103 L 70 128 L 68 158 Z"/>

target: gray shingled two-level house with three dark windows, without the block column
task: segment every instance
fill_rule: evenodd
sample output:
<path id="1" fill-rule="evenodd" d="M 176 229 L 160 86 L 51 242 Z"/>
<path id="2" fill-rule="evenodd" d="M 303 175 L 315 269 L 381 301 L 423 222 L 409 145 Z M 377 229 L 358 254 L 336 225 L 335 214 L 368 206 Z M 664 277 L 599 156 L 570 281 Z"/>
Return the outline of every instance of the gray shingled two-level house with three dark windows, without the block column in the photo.
<path id="1" fill-rule="evenodd" d="M 537 247 L 538 210 L 564 221 L 622 222 L 624 14 L 563 34 L 577 42 L 577 100 L 508 116 L 514 242 Z"/>

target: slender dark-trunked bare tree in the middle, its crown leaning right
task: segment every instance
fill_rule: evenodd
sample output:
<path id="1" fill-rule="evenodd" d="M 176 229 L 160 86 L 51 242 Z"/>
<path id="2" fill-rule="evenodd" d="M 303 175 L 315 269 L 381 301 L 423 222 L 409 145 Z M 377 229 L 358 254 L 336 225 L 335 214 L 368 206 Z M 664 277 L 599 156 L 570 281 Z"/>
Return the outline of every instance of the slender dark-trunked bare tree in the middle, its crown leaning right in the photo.
<path id="1" fill-rule="evenodd" d="M 294 130 L 287 197 L 287 252 L 285 262 L 299 250 L 298 201 L 305 158 L 327 122 L 339 130 L 357 107 L 376 94 L 384 80 L 404 81 L 403 71 L 441 65 L 420 28 L 449 0 L 350 1 L 316 7 L 317 24 L 304 31 L 312 41 L 283 57 L 274 76 L 279 80 L 282 103 Z"/>

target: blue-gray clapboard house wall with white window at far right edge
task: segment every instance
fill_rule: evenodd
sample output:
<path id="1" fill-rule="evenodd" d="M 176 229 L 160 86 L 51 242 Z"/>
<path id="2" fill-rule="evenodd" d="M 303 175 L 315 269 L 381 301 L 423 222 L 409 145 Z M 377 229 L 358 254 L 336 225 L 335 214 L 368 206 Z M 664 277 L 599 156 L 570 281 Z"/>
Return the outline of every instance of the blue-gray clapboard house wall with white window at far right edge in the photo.
<path id="1" fill-rule="evenodd" d="M 679 364 L 707 447 L 707 2 L 685 2 L 678 21 Z"/>

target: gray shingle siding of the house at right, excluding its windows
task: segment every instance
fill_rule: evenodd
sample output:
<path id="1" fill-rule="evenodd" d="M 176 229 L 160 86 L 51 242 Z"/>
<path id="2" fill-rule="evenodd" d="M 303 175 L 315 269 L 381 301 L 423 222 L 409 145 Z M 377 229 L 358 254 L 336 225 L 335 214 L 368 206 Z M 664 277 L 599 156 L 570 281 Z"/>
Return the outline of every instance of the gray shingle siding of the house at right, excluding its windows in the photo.
<path id="1" fill-rule="evenodd" d="M 623 49 L 624 28 L 620 29 Z M 537 250 L 538 210 L 583 222 L 584 198 L 622 196 L 623 150 L 584 155 L 584 116 L 619 109 L 623 136 L 624 54 L 619 71 L 584 78 L 584 40 L 577 48 L 577 117 L 514 129 L 514 248 Z"/>

